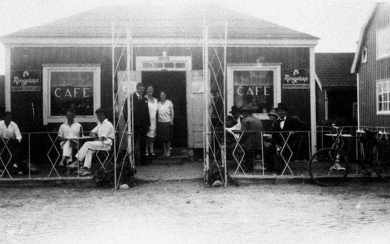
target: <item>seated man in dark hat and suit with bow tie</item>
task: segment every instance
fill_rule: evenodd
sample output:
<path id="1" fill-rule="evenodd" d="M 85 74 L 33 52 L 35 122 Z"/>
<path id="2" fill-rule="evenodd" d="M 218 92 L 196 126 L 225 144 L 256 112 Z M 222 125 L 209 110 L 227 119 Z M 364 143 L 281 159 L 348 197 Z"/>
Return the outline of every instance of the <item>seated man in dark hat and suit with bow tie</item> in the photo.
<path id="1" fill-rule="evenodd" d="M 297 132 L 306 131 L 307 125 L 305 122 L 300 121 L 299 118 L 296 116 L 287 116 L 287 112 L 289 109 L 286 103 L 279 102 L 277 104 L 276 110 L 279 115 L 279 119 L 273 127 L 273 131 L 276 132 L 273 133 L 273 137 L 272 137 L 273 144 L 275 145 L 276 151 L 280 151 L 285 143 L 285 140 L 287 140 L 291 132 L 287 143 L 289 147 L 293 150 L 295 142 L 298 141 Z M 278 166 L 281 165 L 276 165 L 276 167 Z M 279 168 L 279 170 L 281 170 L 281 168 Z"/>

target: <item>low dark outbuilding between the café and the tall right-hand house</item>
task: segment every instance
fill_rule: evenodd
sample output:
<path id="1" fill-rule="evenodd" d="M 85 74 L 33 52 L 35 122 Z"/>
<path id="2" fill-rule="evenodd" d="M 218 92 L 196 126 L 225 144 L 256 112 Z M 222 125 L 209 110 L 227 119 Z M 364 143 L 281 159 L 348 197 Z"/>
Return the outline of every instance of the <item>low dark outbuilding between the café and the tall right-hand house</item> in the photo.
<path id="1" fill-rule="evenodd" d="M 319 120 L 357 122 L 356 74 L 351 74 L 354 53 L 316 53 L 316 116 Z"/>

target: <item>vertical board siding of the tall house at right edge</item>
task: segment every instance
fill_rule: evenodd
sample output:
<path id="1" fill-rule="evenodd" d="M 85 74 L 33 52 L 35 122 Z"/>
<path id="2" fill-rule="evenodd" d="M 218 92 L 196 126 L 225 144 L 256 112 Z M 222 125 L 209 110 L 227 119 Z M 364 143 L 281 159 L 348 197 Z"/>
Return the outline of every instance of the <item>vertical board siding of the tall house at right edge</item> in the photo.
<path id="1" fill-rule="evenodd" d="M 390 24 L 390 6 L 379 4 L 364 40 L 367 62 L 359 66 L 360 125 L 390 127 L 390 115 L 376 114 L 376 81 L 390 79 L 390 58 L 376 60 L 376 30 Z"/>

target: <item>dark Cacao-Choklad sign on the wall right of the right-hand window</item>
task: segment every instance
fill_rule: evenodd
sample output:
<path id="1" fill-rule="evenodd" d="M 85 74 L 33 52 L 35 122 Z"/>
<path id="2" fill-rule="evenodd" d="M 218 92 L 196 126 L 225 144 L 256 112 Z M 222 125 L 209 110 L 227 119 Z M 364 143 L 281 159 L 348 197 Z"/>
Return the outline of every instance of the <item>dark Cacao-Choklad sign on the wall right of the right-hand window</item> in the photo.
<path id="1" fill-rule="evenodd" d="M 309 69 L 283 69 L 284 89 L 309 89 L 310 88 Z"/>

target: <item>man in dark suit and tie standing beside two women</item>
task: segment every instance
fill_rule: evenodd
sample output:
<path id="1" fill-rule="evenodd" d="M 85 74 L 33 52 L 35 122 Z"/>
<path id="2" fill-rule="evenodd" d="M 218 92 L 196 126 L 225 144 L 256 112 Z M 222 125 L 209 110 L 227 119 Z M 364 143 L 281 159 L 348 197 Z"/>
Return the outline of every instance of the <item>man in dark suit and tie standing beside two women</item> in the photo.
<path id="1" fill-rule="evenodd" d="M 141 165 L 147 165 L 146 159 L 146 134 L 149 131 L 150 117 L 148 100 L 143 96 L 145 92 L 145 85 L 141 82 L 137 83 L 136 92 L 133 94 L 133 123 L 134 123 L 134 143 L 139 138 L 139 151 Z M 124 103 L 124 117 L 127 122 L 127 100 Z"/>

